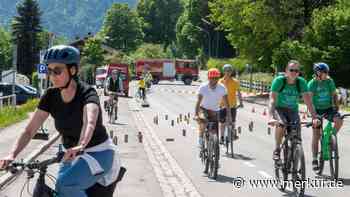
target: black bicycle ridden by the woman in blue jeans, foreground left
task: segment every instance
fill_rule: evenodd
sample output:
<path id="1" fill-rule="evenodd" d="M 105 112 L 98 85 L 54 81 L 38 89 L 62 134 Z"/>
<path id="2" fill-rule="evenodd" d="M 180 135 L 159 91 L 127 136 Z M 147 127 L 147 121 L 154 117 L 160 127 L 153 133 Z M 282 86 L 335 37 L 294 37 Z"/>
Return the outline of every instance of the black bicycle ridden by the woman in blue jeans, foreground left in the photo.
<path id="1" fill-rule="evenodd" d="M 10 171 L 11 173 L 14 173 L 14 174 L 18 173 L 19 171 L 26 172 L 27 181 L 23 185 L 20 197 L 23 196 L 23 191 L 26 186 L 27 186 L 27 191 L 29 192 L 30 190 L 29 182 L 31 179 L 34 178 L 35 174 L 39 174 L 39 177 L 36 180 L 32 196 L 33 197 L 56 197 L 57 192 L 51 189 L 45 183 L 45 178 L 48 177 L 50 180 L 56 181 L 53 175 L 47 174 L 47 168 L 52 164 L 59 163 L 62 160 L 63 156 L 64 156 L 64 152 L 59 152 L 57 153 L 56 156 L 41 162 L 39 161 L 34 161 L 29 163 L 13 162 L 5 170 Z M 88 197 L 102 197 L 102 196 L 113 197 L 113 193 L 116 188 L 116 185 L 119 181 L 122 180 L 125 172 L 126 172 L 126 169 L 124 167 L 121 167 L 116 181 L 114 181 L 111 185 L 107 187 L 102 186 L 99 183 L 96 183 L 95 185 L 93 185 L 92 187 L 86 190 L 87 196 Z"/>

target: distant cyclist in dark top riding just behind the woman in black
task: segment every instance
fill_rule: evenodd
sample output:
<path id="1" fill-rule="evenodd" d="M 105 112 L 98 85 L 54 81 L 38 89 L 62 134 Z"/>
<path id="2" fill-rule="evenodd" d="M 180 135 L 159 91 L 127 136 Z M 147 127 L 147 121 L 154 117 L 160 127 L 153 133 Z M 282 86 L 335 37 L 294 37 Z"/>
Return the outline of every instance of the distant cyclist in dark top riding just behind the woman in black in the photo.
<path id="1" fill-rule="evenodd" d="M 117 93 L 123 92 L 123 80 L 119 69 L 112 70 L 111 77 L 107 80 L 107 91 L 109 94 L 108 105 L 110 105 L 114 99 L 114 120 L 118 119 L 118 95 Z"/>

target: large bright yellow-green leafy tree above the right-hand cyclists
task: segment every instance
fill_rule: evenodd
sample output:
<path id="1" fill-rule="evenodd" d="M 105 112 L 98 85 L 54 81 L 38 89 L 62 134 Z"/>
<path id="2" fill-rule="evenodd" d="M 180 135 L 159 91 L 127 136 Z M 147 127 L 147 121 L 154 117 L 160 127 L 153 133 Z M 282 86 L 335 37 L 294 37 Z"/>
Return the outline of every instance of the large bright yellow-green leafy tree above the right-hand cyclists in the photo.
<path id="1" fill-rule="evenodd" d="M 301 41 L 314 10 L 335 0 L 217 0 L 211 1 L 211 19 L 228 32 L 240 54 L 262 70 L 270 70 L 274 50 L 284 41 Z M 275 53 L 277 54 L 277 52 Z"/>

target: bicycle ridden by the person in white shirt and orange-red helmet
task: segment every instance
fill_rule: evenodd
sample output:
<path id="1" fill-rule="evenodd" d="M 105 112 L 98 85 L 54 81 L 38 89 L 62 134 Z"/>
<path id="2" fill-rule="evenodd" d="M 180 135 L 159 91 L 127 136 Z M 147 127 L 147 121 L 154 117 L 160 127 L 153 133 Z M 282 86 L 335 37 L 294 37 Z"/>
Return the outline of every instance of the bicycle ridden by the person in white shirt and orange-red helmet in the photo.
<path id="1" fill-rule="evenodd" d="M 204 143 L 200 150 L 200 158 L 204 164 L 204 173 L 208 174 L 209 178 L 216 180 L 220 158 L 219 121 L 218 118 L 216 118 L 216 120 L 209 120 L 207 113 L 205 114 L 204 118 L 202 117 L 197 120 L 206 124 L 204 130 Z"/>

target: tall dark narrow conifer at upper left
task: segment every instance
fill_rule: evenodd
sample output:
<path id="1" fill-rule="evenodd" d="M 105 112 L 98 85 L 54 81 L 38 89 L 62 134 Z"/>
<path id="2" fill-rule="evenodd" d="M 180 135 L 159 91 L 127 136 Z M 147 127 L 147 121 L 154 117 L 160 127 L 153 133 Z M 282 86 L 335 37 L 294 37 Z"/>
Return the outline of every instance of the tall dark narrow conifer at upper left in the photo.
<path id="1" fill-rule="evenodd" d="M 14 17 L 12 31 L 17 44 L 17 70 L 29 78 L 39 63 L 39 33 L 41 12 L 36 0 L 24 0 L 17 6 L 18 16 Z"/>

